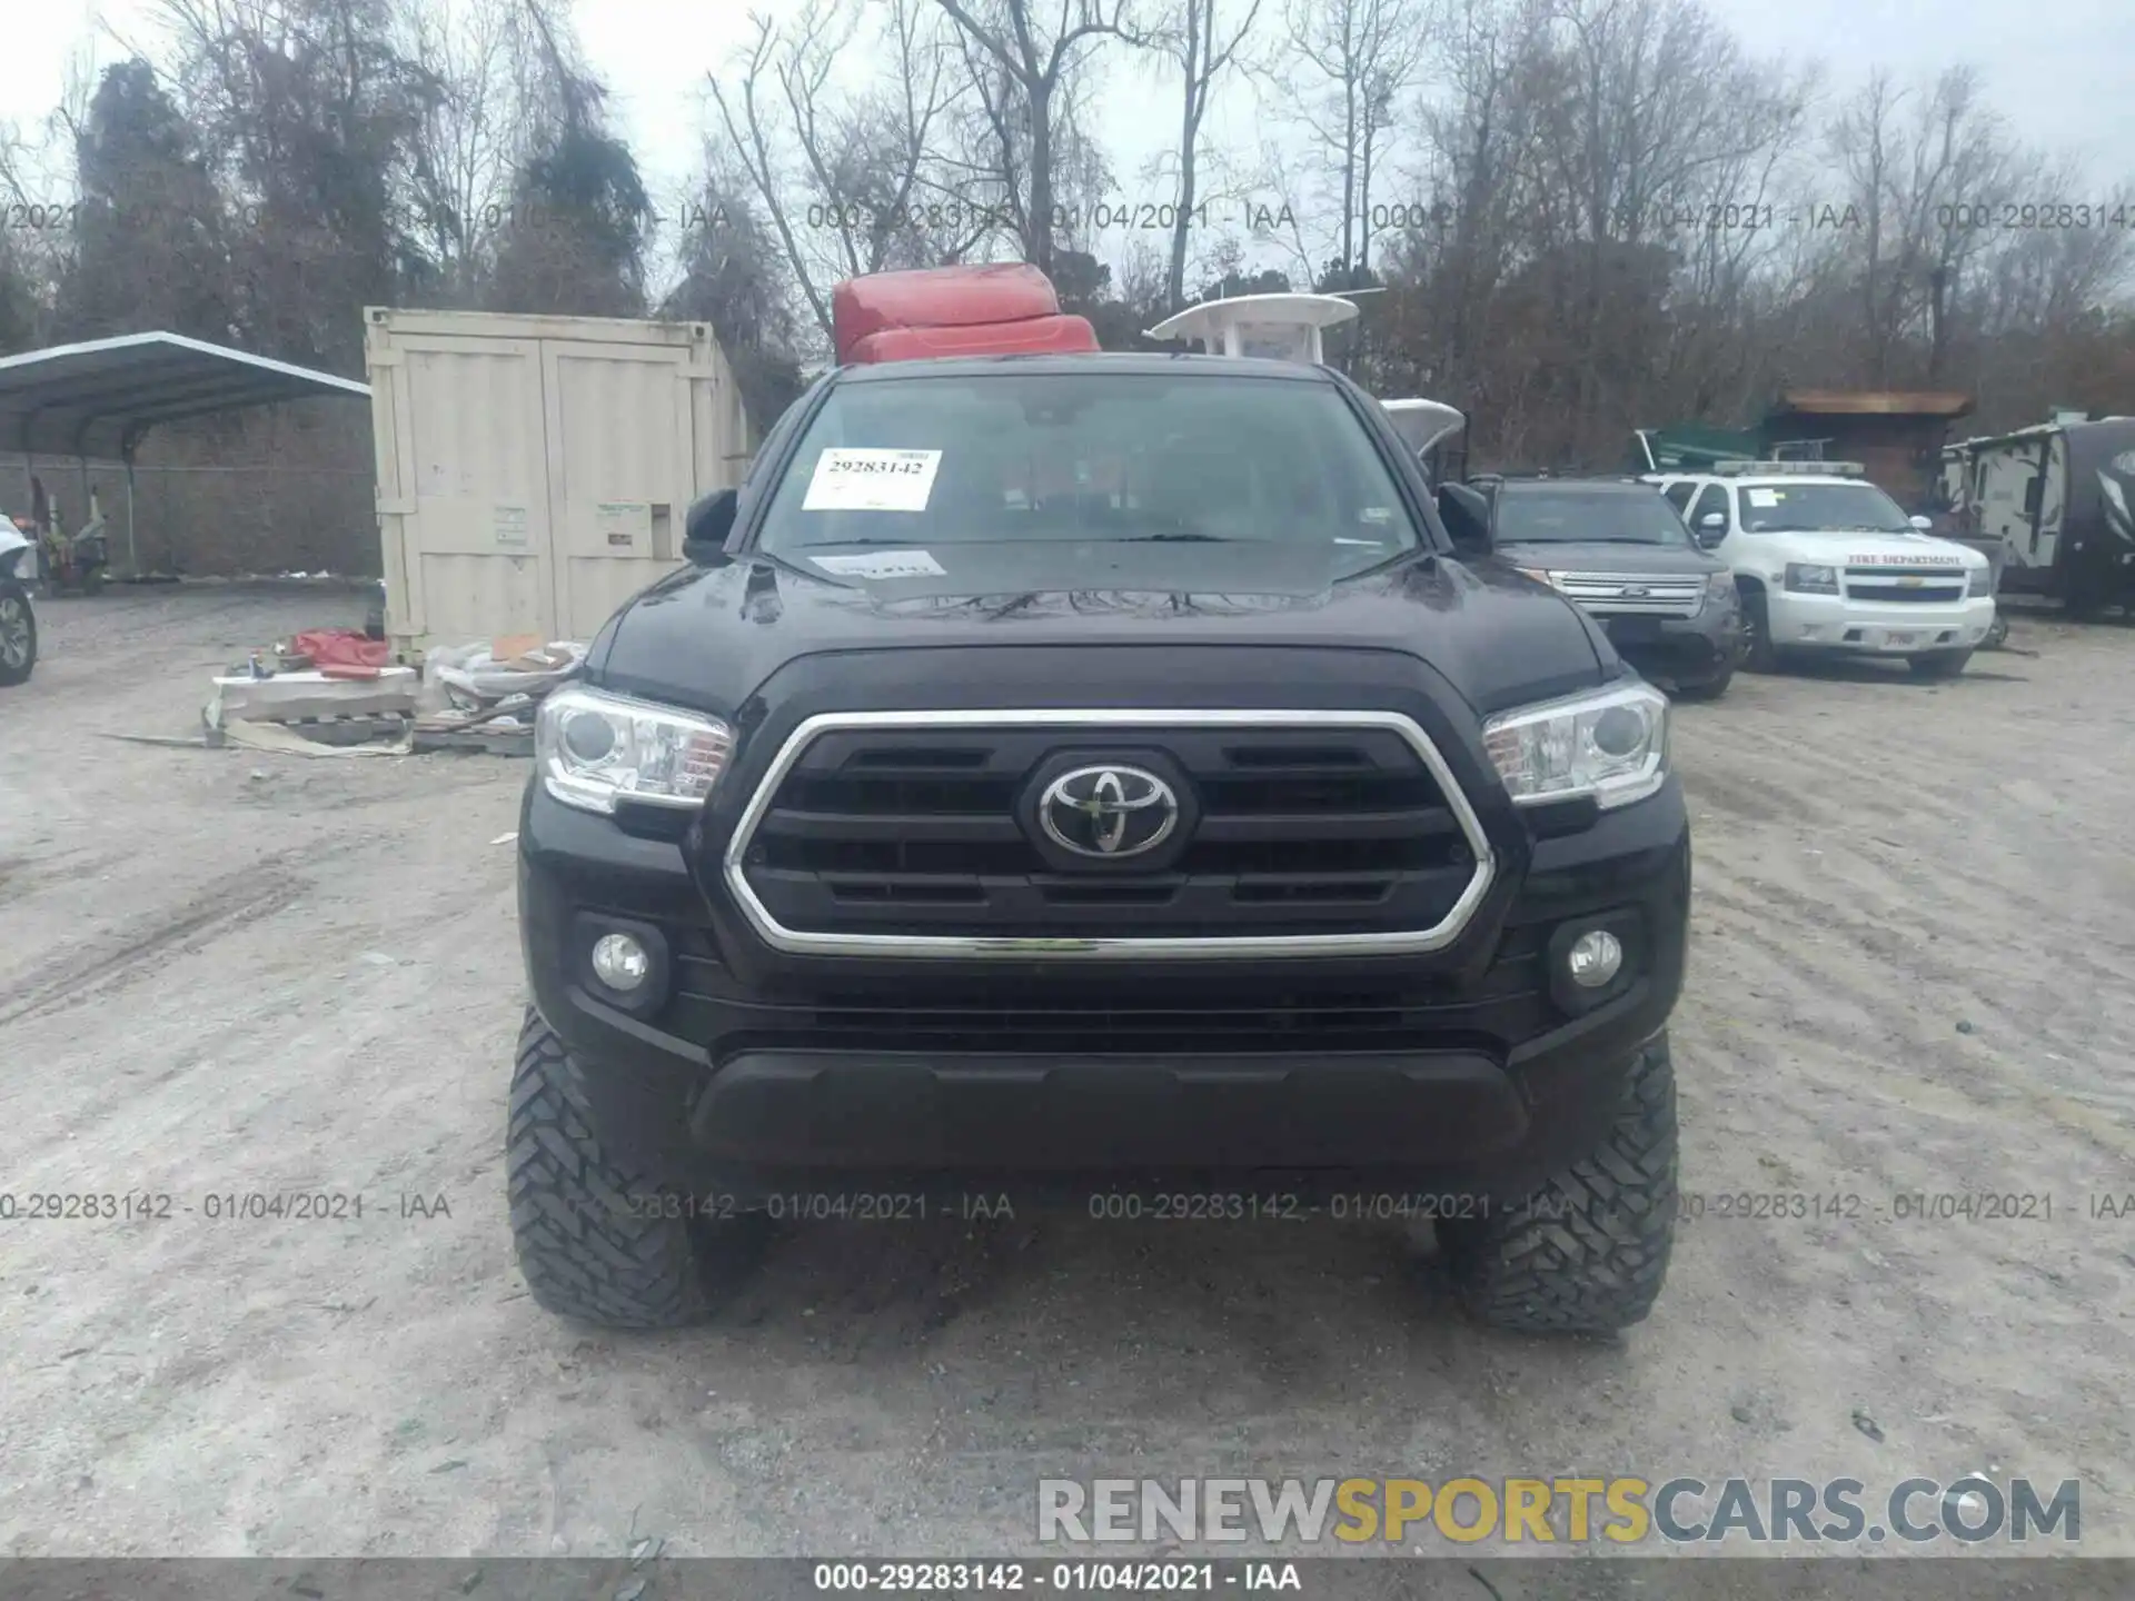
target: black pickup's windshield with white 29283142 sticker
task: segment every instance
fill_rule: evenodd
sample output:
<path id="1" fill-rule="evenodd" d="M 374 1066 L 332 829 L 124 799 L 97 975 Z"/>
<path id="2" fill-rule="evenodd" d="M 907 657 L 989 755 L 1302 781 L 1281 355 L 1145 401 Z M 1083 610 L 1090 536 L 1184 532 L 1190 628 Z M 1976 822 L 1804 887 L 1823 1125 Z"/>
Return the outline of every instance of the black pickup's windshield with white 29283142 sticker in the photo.
<path id="1" fill-rule="evenodd" d="M 1324 551 L 1330 576 L 1420 544 L 1392 472 L 1326 384 L 1001 371 L 835 389 L 758 546 L 1014 542 L 1035 555 L 1144 540 Z"/>

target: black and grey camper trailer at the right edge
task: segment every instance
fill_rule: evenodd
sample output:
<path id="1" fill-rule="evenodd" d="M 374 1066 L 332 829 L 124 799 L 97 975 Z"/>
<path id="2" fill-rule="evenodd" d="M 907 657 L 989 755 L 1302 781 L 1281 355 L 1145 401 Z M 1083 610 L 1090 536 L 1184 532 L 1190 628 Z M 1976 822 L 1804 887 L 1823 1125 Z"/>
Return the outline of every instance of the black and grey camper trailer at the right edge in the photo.
<path id="1" fill-rule="evenodd" d="M 2007 593 L 2135 604 L 2135 416 L 1951 444 L 1941 482 L 1966 532 L 2003 546 Z"/>

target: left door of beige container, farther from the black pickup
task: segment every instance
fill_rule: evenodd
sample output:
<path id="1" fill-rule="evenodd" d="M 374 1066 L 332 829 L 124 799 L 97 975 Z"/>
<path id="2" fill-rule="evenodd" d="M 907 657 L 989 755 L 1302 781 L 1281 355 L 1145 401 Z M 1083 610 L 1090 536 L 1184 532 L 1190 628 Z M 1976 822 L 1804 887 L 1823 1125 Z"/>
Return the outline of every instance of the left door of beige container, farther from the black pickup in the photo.
<path id="1" fill-rule="evenodd" d="M 399 335 L 371 356 L 371 382 L 391 389 L 374 416 L 393 429 L 391 480 L 378 442 L 378 517 L 395 643 L 553 636 L 540 346 Z"/>

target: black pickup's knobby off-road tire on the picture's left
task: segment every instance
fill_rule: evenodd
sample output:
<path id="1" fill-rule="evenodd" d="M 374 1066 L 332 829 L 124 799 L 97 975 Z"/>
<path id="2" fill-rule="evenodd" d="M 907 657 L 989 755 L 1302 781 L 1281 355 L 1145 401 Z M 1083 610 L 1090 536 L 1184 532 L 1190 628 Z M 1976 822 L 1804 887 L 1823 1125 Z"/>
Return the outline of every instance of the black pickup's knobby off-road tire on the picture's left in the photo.
<path id="1" fill-rule="evenodd" d="M 540 1306 L 632 1330 L 713 1311 L 713 1266 L 728 1253 L 711 1249 L 705 1223 L 662 1215 L 649 1204 L 660 1187 L 600 1148 L 583 1069 L 534 1008 L 519 1029 L 504 1174 L 519 1272 Z"/>

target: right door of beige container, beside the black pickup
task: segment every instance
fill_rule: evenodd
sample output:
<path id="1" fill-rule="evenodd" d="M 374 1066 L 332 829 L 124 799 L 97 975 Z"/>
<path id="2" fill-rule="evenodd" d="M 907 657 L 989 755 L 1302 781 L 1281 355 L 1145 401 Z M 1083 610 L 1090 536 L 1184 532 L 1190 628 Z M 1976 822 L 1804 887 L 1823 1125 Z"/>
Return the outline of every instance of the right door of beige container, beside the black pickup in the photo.
<path id="1" fill-rule="evenodd" d="M 696 497 L 687 346 L 544 339 L 557 638 L 589 640 L 681 564 Z"/>

